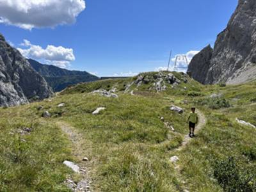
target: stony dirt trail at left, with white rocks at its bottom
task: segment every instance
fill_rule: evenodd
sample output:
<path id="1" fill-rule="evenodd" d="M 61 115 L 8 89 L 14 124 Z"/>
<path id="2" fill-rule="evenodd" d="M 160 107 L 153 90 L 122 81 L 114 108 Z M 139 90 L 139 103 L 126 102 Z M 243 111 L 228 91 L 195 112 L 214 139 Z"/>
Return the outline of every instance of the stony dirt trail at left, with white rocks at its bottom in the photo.
<path id="1" fill-rule="evenodd" d="M 90 172 L 90 166 L 91 161 L 83 161 L 84 157 L 86 156 L 85 152 L 88 153 L 88 150 L 90 150 L 90 145 L 88 143 L 85 143 L 85 140 L 83 139 L 83 134 L 79 133 L 76 128 L 70 126 L 66 122 L 56 122 L 56 125 L 61 128 L 61 130 L 67 134 L 69 140 L 72 142 L 72 155 L 76 157 L 77 162 L 76 163 L 80 167 L 79 175 L 82 177 L 82 180 L 80 183 L 77 183 L 76 191 L 92 191 L 90 189 L 90 177 L 88 175 L 88 172 Z M 80 186 L 80 189 L 79 189 Z"/>

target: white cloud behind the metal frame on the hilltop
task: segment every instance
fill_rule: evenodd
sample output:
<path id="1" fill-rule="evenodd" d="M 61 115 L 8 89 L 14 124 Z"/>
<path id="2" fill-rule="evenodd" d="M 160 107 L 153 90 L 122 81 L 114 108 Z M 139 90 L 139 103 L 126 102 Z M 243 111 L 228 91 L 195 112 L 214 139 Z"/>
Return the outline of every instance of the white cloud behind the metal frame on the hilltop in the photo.
<path id="1" fill-rule="evenodd" d="M 169 70 L 170 71 L 178 70 L 179 72 L 186 72 L 188 64 L 190 63 L 192 58 L 195 56 L 195 54 L 197 54 L 198 52 L 199 51 L 189 51 L 186 54 L 179 54 L 179 55 L 186 56 L 187 60 L 188 60 L 188 63 L 186 62 L 185 58 L 180 58 L 179 60 L 177 60 L 177 68 L 176 69 L 174 69 L 174 64 L 175 64 L 176 56 L 178 56 L 178 55 L 175 55 L 175 57 L 172 58 L 172 64 L 171 64 Z M 167 67 L 157 67 L 157 68 L 155 68 L 155 70 L 156 71 L 167 70 Z"/>

